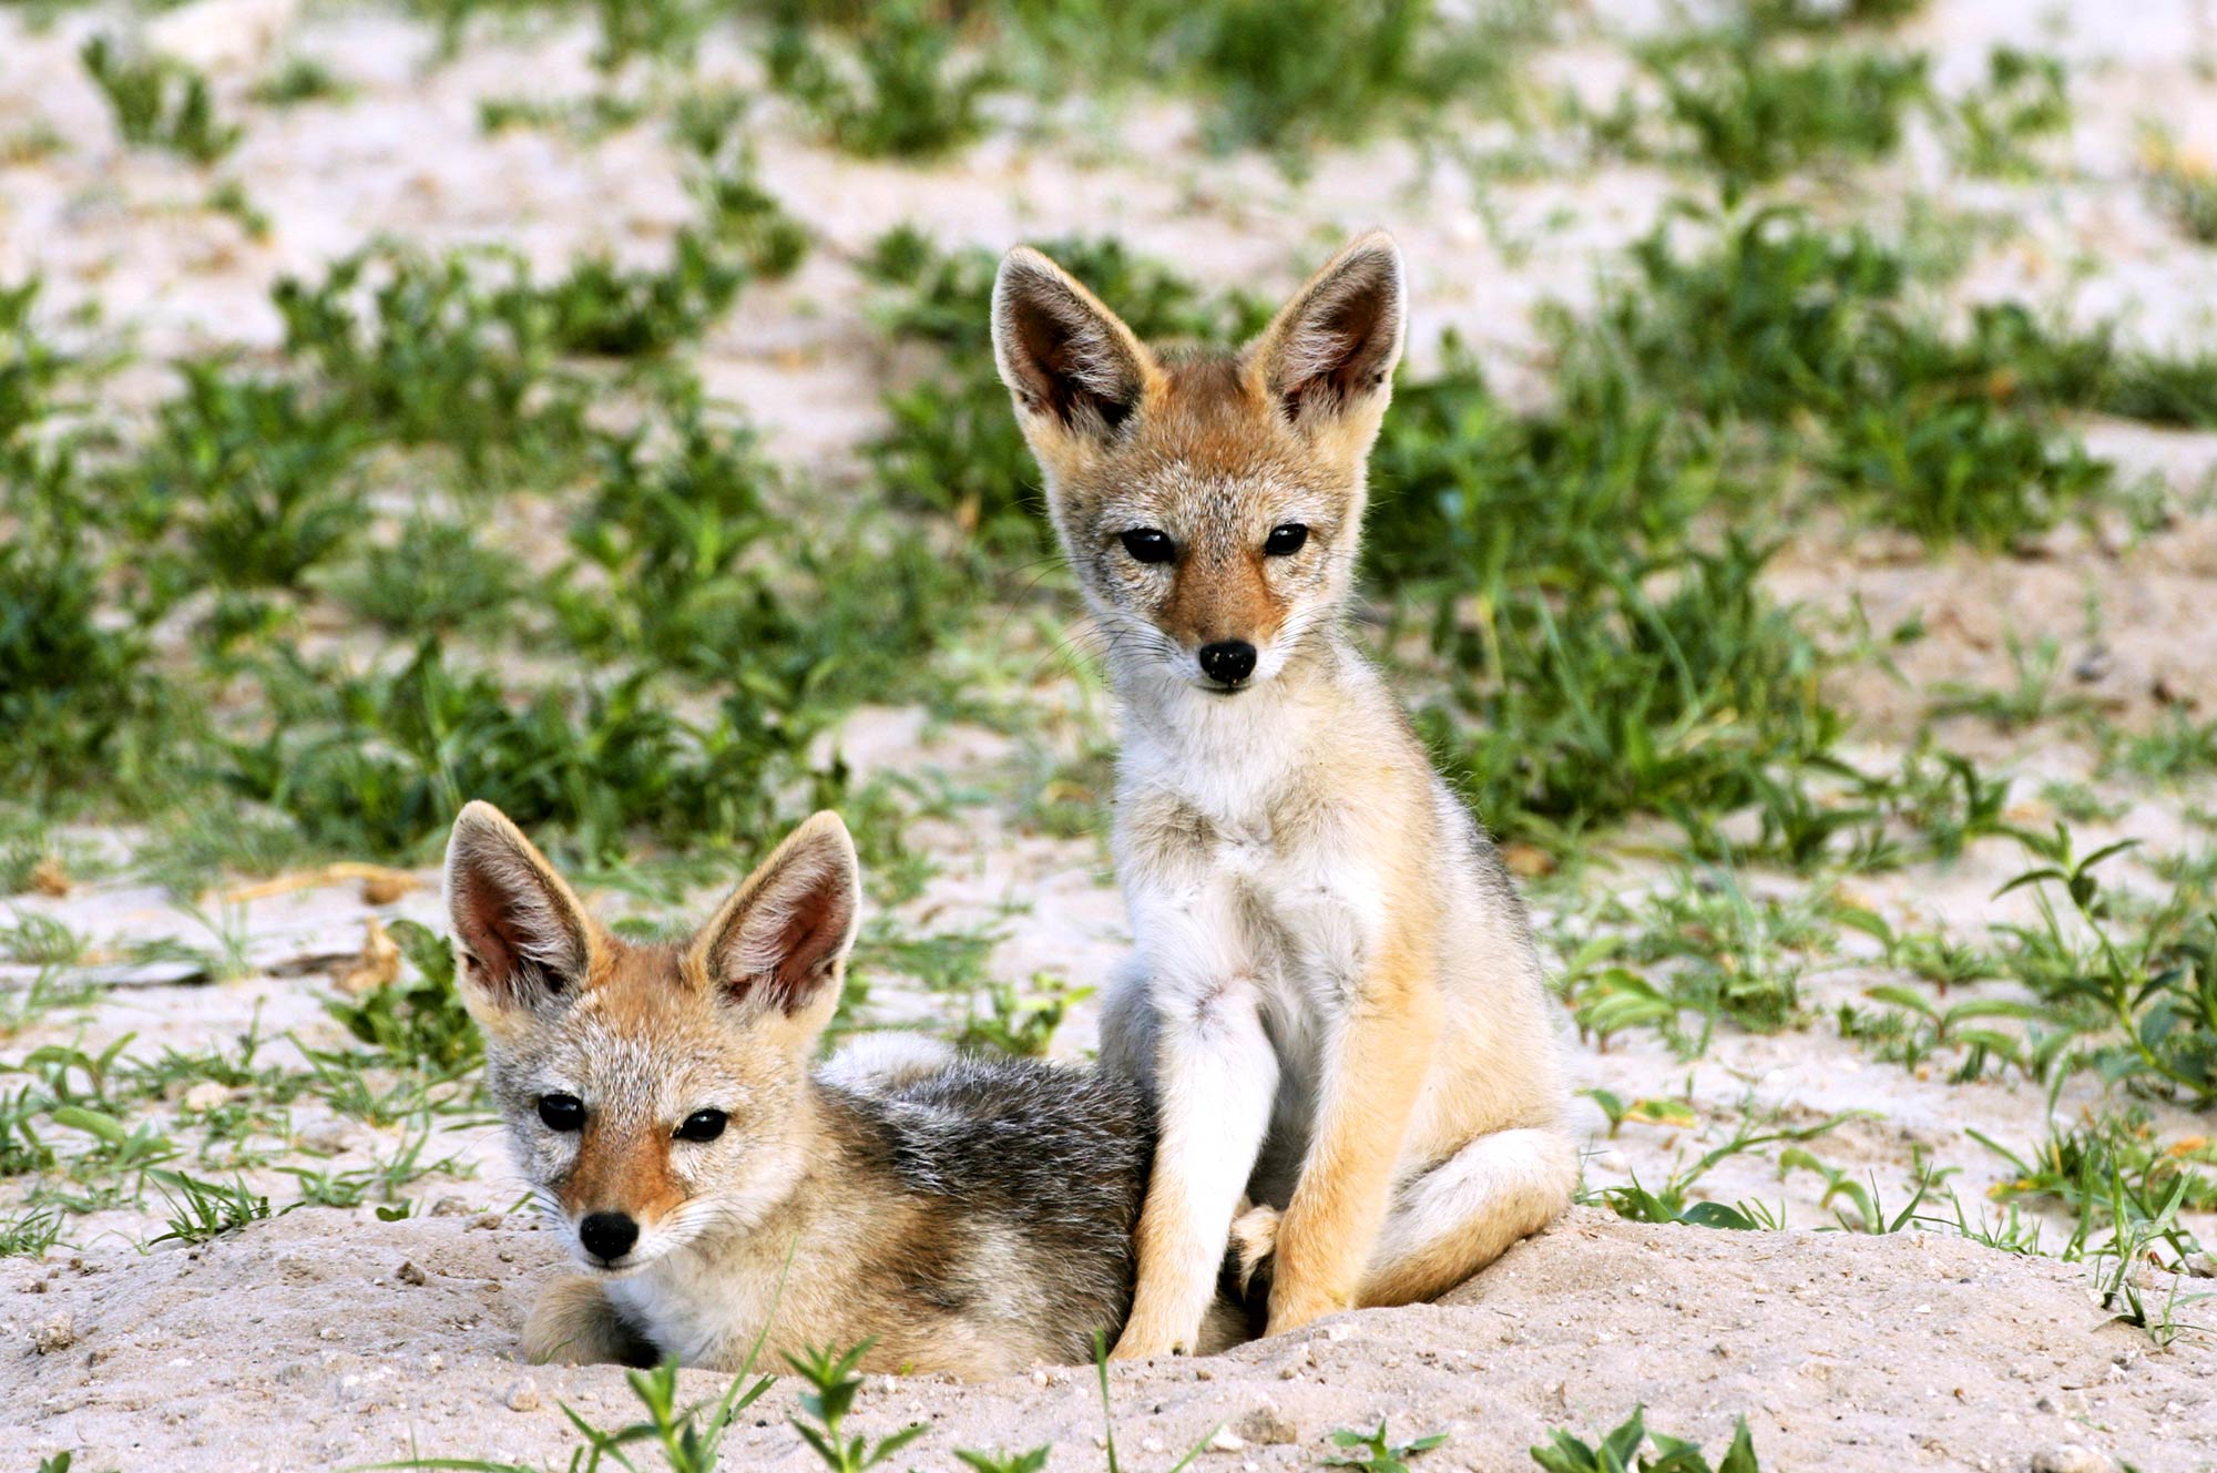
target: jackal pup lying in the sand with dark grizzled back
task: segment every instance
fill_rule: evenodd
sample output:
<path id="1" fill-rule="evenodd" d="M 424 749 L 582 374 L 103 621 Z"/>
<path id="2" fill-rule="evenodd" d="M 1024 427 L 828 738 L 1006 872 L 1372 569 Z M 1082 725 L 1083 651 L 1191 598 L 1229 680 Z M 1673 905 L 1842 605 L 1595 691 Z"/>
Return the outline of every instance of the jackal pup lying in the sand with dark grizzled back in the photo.
<path id="1" fill-rule="evenodd" d="M 756 1338 L 767 1364 L 876 1338 L 867 1369 L 982 1378 L 1091 1360 L 1124 1322 L 1135 1085 L 891 1038 L 809 1069 L 856 932 L 836 814 L 676 945 L 601 929 L 488 803 L 454 821 L 446 896 L 486 1083 L 585 1269 L 532 1309 L 532 1360 L 734 1371 Z"/>

